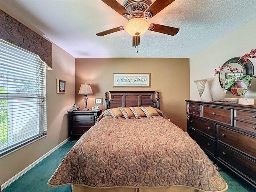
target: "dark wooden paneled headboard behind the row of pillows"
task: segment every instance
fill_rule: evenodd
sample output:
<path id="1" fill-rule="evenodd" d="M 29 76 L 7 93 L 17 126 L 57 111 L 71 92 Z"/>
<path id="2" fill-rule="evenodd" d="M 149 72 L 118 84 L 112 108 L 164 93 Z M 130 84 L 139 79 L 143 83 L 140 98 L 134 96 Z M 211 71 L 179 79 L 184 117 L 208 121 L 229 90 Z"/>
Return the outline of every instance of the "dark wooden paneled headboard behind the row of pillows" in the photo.
<path id="1" fill-rule="evenodd" d="M 159 92 L 156 101 L 153 98 L 155 91 L 110 91 L 111 98 L 105 93 L 105 110 L 116 107 L 152 106 L 159 109 Z"/>

